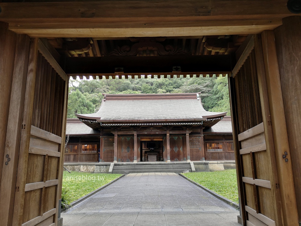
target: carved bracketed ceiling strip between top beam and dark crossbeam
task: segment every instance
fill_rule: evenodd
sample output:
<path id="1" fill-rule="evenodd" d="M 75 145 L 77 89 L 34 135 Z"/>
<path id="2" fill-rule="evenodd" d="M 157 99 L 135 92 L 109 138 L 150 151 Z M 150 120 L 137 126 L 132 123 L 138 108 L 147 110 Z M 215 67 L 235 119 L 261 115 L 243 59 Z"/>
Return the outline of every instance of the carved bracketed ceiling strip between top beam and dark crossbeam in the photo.
<path id="1" fill-rule="evenodd" d="M 67 57 L 223 55 L 235 52 L 247 35 L 172 37 L 47 38 Z"/>

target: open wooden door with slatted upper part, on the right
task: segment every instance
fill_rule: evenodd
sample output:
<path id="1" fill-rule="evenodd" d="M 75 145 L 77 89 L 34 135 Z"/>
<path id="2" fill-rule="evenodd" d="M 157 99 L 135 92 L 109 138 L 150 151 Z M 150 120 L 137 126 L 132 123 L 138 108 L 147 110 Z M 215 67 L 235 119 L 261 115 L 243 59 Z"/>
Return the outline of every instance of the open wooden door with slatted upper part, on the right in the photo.
<path id="1" fill-rule="evenodd" d="M 283 184 L 277 171 L 279 153 L 274 148 L 275 121 L 270 116 L 261 42 L 261 36 L 248 37 L 229 77 L 240 211 L 244 225 L 293 225 L 285 217 L 287 208 L 281 210 Z"/>

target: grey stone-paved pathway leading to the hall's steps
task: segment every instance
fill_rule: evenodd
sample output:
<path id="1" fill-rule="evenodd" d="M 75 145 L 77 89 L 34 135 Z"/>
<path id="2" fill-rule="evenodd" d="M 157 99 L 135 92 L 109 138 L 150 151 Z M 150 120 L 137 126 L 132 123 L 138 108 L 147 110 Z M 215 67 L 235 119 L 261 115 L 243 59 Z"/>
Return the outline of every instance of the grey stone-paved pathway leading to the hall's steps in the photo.
<path id="1" fill-rule="evenodd" d="M 127 174 L 61 214 L 64 226 L 241 226 L 237 215 L 175 173 Z"/>

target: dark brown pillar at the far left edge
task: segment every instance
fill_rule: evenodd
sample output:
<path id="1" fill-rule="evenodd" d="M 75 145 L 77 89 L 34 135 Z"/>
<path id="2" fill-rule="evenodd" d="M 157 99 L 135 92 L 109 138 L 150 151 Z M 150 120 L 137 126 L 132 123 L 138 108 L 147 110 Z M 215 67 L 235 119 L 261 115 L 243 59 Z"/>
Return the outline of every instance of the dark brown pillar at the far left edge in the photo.
<path id="1" fill-rule="evenodd" d="M 0 22 L 0 160 L 4 163 L 6 162 L 4 161 L 4 149 L 8 122 L 8 111 L 11 98 L 11 84 L 14 70 L 16 39 L 16 33 L 8 30 L 8 24 Z M 2 167 L 0 167 L 0 181 L 1 177 Z"/>

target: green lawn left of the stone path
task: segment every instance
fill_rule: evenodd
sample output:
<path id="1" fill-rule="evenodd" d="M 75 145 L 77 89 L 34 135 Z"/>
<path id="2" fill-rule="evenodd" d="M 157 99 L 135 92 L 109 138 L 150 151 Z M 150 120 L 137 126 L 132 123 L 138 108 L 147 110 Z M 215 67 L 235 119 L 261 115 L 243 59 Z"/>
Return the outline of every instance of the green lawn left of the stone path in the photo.
<path id="1" fill-rule="evenodd" d="M 64 171 L 62 203 L 70 204 L 121 175 L 122 174 L 91 174 L 74 171 L 68 173 Z"/>

